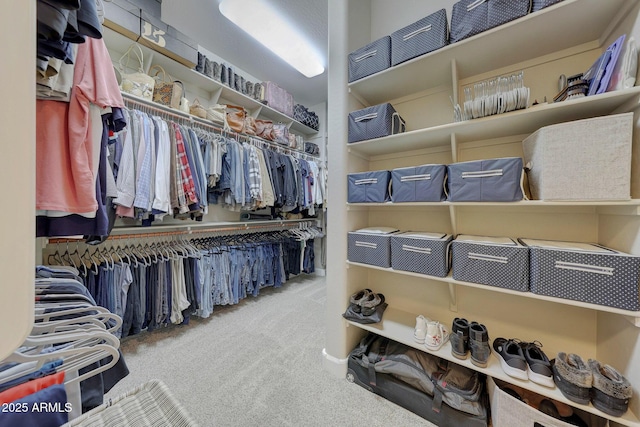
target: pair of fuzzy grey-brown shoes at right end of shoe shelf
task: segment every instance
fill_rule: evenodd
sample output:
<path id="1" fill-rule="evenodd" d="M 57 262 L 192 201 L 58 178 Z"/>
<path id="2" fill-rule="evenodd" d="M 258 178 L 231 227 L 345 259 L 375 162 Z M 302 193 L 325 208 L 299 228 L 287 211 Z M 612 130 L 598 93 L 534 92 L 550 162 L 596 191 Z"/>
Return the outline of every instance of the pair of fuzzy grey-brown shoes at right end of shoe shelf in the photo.
<path id="1" fill-rule="evenodd" d="M 558 353 L 553 364 L 553 378 L 569 400 L 593 406 L 620 417 L 629 408 L 633 396 L 631 383 L 610 365 L 589 359 L 585 363 L 577 354 Z"/>

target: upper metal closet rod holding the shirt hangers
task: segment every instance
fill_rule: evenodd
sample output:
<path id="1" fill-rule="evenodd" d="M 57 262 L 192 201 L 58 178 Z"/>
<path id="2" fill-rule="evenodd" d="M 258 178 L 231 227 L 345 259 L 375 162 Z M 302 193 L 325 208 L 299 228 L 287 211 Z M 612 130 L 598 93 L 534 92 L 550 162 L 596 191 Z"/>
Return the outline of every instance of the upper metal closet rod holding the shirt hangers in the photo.
<path id="1" fill-rule="evenodd" d="M 212 125 L 211 123 L 208 123 L 207 121 L 199 118 L 199 117 L 193 117 L 190 114 L 187 113 L 183 113 L 182 111 L 175 111 L 173 109 L 170 109 L 168 107 L 162 107 L 160 105 L 158 105 L 155 102 L 152 101 L 147 101 L 146 99 L 140 99 L 136 96 L 130 95 L 128 93 L 123 92 L 122 93 L 122 98 L 125 102 L 125 104 L 133 104 L 133 105 L 137 105 L 139 107 L 140 110 L 142 110 L 144 112 L 144 110 L 151 110 L 151 111 L 155 111 L 157 113 L 159 113 L 162 116 L 165 117 L 171 117 L 174 119 L 178 119 L 178 120 L 186 120 L 190 125 L 197 125 L 197 126 L 202 126 L 202 127 L 206 127 L 209 129 L 212 129 L 220 134 L 228 134 L 231 135 L 233 137 L 235 137 L 236 140 L 240 140 L 241 138 L 249 143 L 255 143 L 255 142 L 260 142 L 262 144 L 267 144 L 273 148 L 275 148 L 276 150 L 282 150 L 286 153 L 289 154 L 293 154 L 295 156 L 300 156 L 305 160 L 312 160 L 314 162 L 321 162 L 322 160 L 320 160 L 319 158 L 316 158 L 310 154 L 304 153 L 300 150 L 293 150 L 289 147 L 283 147 L 282 145 L 279 145 L 277 143 L 274 143 L 272 141 L 267 141 L 266 139 L 262 139 L 260 137 L 257 136 L 252 136 L 252 135 L 245 135 L 245 134 L 241 134 L 241 133 L 237 133 L 234 131 L 229 131 L 229 130 L 224 130 L 223 128 L 217 127 Z M 255 144 L 254 144 L 255 145 Z"/>

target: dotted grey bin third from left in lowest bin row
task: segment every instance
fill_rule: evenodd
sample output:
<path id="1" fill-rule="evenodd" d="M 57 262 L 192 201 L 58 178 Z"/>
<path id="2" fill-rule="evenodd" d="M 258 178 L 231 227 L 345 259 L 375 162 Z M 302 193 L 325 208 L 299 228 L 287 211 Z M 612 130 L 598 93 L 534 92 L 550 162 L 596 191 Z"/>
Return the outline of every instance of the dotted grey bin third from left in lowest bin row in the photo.
<path id="1" fill-rule="evenodd" d="M 508 237 L 457 236 L 451 269 L 455 280 L 529 290 L 529 248 Z"/>

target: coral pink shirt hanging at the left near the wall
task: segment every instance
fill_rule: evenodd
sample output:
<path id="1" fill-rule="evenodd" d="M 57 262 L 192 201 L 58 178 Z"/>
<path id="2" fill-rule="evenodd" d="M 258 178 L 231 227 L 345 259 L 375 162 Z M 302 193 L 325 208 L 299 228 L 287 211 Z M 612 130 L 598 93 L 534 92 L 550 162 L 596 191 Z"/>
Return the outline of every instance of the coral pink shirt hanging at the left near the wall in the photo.
<path id="1" fill-rule="evenodd" d="M 36 209 L 97 209 L 90 104 L 124 107 L 104 40 L 88 37 L 78 46 L 69 103 L 36 101 Z"/>

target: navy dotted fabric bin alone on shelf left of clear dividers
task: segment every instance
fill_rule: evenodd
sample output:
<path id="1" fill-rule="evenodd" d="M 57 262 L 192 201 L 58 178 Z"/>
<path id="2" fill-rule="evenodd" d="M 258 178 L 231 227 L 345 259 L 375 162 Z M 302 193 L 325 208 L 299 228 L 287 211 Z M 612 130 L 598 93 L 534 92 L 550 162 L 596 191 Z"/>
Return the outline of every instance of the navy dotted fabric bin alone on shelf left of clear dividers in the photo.
<path id="1" fill-rule="evenodd" d="M 404 131 L 404 120 L 388 102 L 349 113 L 348 142 L 381 138 Z"/>

